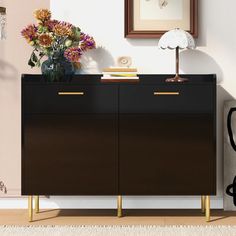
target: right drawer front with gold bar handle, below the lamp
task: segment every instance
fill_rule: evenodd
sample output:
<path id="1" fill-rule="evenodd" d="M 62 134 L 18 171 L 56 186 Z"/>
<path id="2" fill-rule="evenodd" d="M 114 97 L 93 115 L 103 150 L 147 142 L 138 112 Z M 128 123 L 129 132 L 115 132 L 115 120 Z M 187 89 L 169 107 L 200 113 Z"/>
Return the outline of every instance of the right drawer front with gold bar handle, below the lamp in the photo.
<path id="1" fill-rule="evenodd" d="M 212 85 L 122 85 L 121 113 L 212 113 Z"/>

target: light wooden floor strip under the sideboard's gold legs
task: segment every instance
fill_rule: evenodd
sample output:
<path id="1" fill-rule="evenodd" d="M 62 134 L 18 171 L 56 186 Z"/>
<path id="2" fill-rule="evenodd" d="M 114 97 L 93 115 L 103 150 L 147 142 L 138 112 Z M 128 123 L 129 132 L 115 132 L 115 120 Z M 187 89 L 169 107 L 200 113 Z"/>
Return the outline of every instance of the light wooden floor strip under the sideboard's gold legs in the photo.
<path id="1" fill-rule="evenodd" d="M 27 210 L 0 210 L 0 225 L 236 225 L 236 212 L 213 210 L 206 223 L 200 210 L 41 210 L 28 222 Z"/>

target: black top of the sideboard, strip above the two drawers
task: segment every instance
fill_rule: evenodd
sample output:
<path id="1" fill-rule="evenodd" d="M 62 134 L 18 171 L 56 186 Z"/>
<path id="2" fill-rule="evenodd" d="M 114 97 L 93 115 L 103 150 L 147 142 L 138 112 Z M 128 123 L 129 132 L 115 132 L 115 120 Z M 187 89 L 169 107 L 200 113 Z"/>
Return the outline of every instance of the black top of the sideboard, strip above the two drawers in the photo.
<path id="1" fill-rule="evenodd" d="M 130 85 L 138 85 L 138 84 L 182 84 L 182 83 L 166 83 L 165 80 L 167 78 L 171 78 L 174 75 L 168 74 L 142 74 L 138 75 L 139 81 L 130 81 L 130 82 L 107 82 L 101 81 L 101 74 L 78 74 L 74 75 L 73 78 L 68 79 L 63 82 L 45 82 L 44 77 L 42 75 L 37 74 L 22 74 L 22 82 L 23 83 L 33 83 L 33 84 L 109 84 L 109 85 L 119 85 L 119 84 L 130 84 Z M 183 78 L 188 78 L 188 82 L 184 84 L 216 84 L 216 75 L 215 74 L 194 74 L 194 75 L 181 75 Z"/>

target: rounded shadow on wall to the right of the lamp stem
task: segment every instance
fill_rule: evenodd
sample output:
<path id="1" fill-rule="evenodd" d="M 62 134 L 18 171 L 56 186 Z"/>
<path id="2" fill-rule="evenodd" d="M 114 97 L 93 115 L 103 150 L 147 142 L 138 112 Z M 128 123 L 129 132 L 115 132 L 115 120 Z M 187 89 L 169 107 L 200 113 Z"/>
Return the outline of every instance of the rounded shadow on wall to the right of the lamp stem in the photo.
<path id="1" fill-rule="evenodd" d="M 199 50 L 180 52 L 180 67 L 185 74 L 217 74 L 217 82 L 223 80 L 221 67 L 211 56 Z"/>

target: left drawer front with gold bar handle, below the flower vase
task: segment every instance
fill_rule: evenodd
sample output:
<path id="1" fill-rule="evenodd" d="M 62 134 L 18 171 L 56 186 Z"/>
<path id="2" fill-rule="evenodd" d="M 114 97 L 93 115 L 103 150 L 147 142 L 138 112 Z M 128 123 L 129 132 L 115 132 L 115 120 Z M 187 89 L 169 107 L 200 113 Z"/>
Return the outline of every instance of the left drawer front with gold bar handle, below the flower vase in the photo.
<path id="1" fill-rule="evenodd" d="M 118 88 L 112 85 L 24 85 L 24 113 L 115 113 Z"/>

